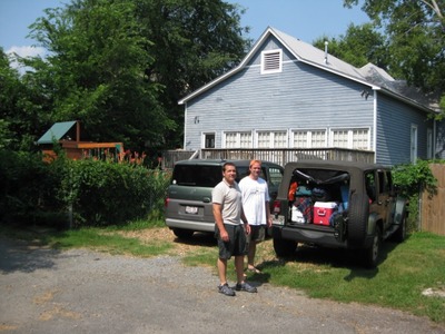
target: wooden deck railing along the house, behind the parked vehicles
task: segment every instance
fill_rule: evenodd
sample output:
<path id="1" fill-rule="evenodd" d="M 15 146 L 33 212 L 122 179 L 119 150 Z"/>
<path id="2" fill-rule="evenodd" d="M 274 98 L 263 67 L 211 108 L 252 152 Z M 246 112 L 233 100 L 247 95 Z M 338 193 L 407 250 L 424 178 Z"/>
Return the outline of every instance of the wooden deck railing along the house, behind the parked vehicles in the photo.
<path id="1" fill-rule="evenodd" d="M 202 148 L 200 150 L 166 150 L 162 168 L 172 168 L 176 161 L 200 159 L 259 159 L 285 166 L 298 159 L 346 160 L 374 163 L 374 151 L 347 148 Z"/>

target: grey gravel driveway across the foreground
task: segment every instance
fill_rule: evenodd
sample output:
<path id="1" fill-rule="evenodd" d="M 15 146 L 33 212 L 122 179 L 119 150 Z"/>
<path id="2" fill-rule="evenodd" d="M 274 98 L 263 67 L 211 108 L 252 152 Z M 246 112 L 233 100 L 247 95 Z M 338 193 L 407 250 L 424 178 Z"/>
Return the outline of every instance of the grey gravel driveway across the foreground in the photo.
<path id="1" fill-rule="evenodd" d="M 0 237 L 0 333 L 445 333 L 427 318 L 218 278 L 178 257 L 58 252 Z M 255 282 L 254 282 L 255 284 Z"/>

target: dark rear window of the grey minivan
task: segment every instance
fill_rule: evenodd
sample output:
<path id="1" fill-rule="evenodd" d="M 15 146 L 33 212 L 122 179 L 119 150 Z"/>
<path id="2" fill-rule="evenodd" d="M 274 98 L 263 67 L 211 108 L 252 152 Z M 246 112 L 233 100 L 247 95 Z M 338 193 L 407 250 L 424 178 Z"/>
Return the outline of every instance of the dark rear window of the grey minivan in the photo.
<path id="1" fill-rule="evenodd" d="M 179 186 L 215 187 L 221 179 L 220 166 L 177 165 L 171 183 Z"/>

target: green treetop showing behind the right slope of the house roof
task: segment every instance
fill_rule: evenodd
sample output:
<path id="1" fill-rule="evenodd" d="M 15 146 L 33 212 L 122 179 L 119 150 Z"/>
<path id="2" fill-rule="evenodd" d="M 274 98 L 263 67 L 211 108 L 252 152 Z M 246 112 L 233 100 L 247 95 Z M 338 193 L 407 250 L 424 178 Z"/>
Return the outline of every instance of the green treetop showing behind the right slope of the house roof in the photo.
<path id="1" fill-rule="evenodd" d="M 328 42 L 330 55 L 355 67 L 363 67 L 368 62 L 383 69 L 388 67 L 385 38 L 370 23 L 349 24 L 345 35 L 332 39 L 320 37 L 314 41 L 314 46 L 324 50 L 325 41 Z"/>

